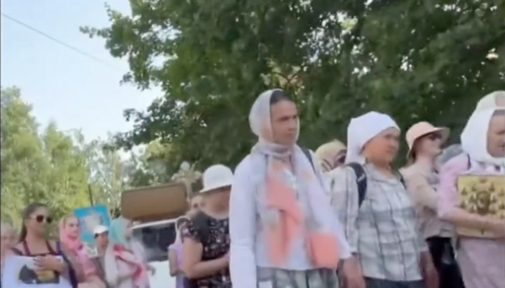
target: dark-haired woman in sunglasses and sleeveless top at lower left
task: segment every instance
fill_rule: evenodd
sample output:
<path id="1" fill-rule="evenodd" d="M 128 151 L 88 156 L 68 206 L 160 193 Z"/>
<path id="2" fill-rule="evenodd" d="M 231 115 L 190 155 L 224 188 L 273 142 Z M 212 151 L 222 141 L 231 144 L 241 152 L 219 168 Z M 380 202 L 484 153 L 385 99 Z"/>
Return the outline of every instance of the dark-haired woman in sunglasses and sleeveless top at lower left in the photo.
<path id="1" fill-rule="evenodd" d="M 76 288 L 77 283 L 83 280 L 81 266 L 64 244 L 45 237 L 46 226 L 53 221 L 46 205 L 32 203 L 25 208 L 22 217 L 19 243 L 11 248 L 11 252 L 34 257 L 37 270 L 53 273 L 56 277 L 62 275 L 69 280 L 72 288 Z M 62 256 L 64 261 L 57 256 Z"/>

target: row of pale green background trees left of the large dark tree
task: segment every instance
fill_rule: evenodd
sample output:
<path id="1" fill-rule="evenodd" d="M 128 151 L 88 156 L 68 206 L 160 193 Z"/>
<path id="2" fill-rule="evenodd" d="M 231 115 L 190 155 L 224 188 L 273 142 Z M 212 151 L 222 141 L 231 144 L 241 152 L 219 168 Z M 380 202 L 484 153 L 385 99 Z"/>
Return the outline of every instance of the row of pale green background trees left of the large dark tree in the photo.
<path id="1" fill-rule="evenodd" d="M 62 132 L 55 123 L 40 129 L 18 88 L 1 89 L 1 218 L 20 224 L 26 205 L 46 203 L 55 219 L 94 203 L 119 207 L 124 188 L 168 181 L 166 170 L 149 160 L 153 142 L 140 153 L 110 149 L 110 140 L 86 142 L 79 130 Z M 164 165 L 164 163 L 163 163 Z"/>

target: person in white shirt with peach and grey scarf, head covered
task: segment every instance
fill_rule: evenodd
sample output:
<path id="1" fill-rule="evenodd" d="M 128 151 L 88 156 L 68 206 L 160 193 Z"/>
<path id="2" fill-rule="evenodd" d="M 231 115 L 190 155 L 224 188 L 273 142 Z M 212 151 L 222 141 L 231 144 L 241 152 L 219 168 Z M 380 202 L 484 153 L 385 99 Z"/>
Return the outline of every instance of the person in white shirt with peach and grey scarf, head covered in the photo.
<path id="1" fill-rule="evenodd" d="M 297 146 L 295 103 L 268 90 L 250 111 L 258 142 L 236 168 L 230 199 L 231 282 L 238 288 L 365 288 L 313 154 Z M 339 266 L 339 260 L 343 263 Z"/>

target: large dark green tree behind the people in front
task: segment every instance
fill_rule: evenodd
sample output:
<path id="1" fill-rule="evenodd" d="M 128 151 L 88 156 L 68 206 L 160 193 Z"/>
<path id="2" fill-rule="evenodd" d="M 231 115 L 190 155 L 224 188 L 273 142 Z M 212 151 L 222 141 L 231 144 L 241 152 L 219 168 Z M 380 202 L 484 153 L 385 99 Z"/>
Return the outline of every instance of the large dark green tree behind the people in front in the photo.
<path id="1" fill-rule="evenodd" d="M 251 148 L 248 111 L 281 87 L 299 104 L 302 144 L 344 139 L 372 109 L 403 128 L 459 130 L 476 100 L 503 87 L 504 1 L 143 1 L 81 31 L 126 57 L 123 81 L 164 95 L 126 111 L 120 144 L 170 142 L 170 160 L 236 164 Z M 498 59 L 487 54 L 495 51 Z M 457 131 L 453 134 L 457 137 Z"/>

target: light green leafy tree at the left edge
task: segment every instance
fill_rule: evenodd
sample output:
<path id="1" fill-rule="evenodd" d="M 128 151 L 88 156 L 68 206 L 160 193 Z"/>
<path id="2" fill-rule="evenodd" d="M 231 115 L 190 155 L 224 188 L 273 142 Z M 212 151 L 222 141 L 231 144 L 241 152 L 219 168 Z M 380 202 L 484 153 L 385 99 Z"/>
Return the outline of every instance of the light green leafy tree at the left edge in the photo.
<path id="1" fill-rule="evenodd" d="M 18 88 L 2 88 L 1 216 L 16 224 L 33 201 L 46 203 L 55 217 L 87 205 L 86 154 L 54 123 L 39 134 L 31 110 Z"/>

